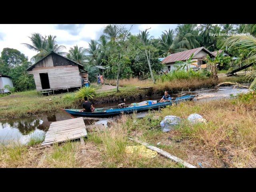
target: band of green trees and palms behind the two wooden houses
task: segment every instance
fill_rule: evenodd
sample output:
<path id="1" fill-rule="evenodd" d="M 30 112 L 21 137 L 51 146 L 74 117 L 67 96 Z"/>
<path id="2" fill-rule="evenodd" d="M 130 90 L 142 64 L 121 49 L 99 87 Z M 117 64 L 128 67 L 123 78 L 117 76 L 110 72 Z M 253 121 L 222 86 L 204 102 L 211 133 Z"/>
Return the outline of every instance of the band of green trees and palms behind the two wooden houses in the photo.
<path id="1" fill-rule="evenodd" d="M 236 36 L 209 34 L 248 32 L 248 37 L 254 41 L 255 24 L 179 24 L 174 30 L 164 30 L 158 38 L 150 36 L 150 30 L 146 29 L 138 34 L 131 34 L 131 28 L 132 25 L 108 25 L 98 40 L 90 40 L 88 48 L 76 45 L 67 53 L 62 52 L 64 46 L 57 44 L 56 36 L 34 33 L 29 37 L 31 42 L 24 43 L 26 47 L 37 52 L 31 62 L 18 50 L 4 48 L 0 58 L 0 73 L 12 77 L 17 91 L 33 89 L 34 80 L 28 75 L 26 68 L 52 50 L 84 65 L 91 82 L 96 81 L 97 74 L 102 74 L 102 70 L 96 68 L 96 65 L 109 66 L 104 70 L 104 78 L 117 80 L 136 77 L 140 80 L 152 78 L 154 81 L 153 76 L 164 68 L 158 58 L 201 46 L 210 51 L 224 49 L 230 56 L 238 58 L 231 62 L 218 63 L 220 69 L 232 70 L 249 61 L 248 58 L 254 58 L 254 45 L 245 44 L 242 39 L 240 44 L 239 41 L 228 43 L 228 40 Z M 186 68 L 187 65 L 183 66 Z"/>

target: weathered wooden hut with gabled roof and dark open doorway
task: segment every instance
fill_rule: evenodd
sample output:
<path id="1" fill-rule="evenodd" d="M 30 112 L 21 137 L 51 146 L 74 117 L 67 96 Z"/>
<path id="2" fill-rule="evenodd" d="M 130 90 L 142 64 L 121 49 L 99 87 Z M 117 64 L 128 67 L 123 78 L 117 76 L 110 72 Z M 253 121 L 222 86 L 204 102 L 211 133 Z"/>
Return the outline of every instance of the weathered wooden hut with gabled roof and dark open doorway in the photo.
<path id="1" fill-rule="evenodd" d="M 84 70 L 84 66 L 53 51 L 27 71 L 34 75 L 37 91 L 80 88 L 83 86 L 82 82 L 88 80 L 88 72 Z"/>

